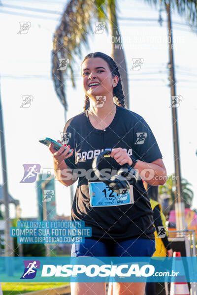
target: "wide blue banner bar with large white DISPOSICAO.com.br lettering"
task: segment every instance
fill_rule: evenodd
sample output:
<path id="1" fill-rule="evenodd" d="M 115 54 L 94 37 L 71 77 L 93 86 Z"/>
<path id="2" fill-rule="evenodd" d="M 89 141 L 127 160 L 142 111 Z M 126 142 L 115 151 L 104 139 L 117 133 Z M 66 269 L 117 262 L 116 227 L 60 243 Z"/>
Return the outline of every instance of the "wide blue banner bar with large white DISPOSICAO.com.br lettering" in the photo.
<path id="1" fill-rule="evenodd" d="M 197 282 L 197 257 L 0 257 L 0 282 Z"/>

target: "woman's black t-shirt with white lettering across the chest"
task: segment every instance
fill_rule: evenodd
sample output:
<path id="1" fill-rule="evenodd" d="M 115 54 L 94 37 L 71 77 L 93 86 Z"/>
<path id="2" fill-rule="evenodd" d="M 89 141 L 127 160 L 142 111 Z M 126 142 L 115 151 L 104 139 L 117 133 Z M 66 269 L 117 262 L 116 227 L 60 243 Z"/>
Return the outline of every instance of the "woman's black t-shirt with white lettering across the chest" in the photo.
<path id="1" fill-rule="evenodd" d="M 112 148 L 124 148 L 129 155 L 144 162 L 162 158 L 148 124 L 141 116 L 126 108 L 117 106 L 113 121 L 104 130 L 93 127 L 87 110 L 70 118 L 63 132 L 66 135 L 65 142 L 74 148 L 74 153 L 65 159 L 66 165 L 71 169 L 89 170 L 93 159 L 100 152 Z M 120 167 L 112 157 L 103 158 L 99 163 L 99 169 Z M 92 172 L 91 177 L 94 175 Z M 133 185 L 134 204 L 111 207 L 90 206 L 88 179 L 88 176 L 78 178 L 71 220 L 83 220 L 85 226 L 91 226 L 92 238 L 95 239 L 121 241 L 136 237 L 155 238 L 153 211 L 142 179 Z"/>

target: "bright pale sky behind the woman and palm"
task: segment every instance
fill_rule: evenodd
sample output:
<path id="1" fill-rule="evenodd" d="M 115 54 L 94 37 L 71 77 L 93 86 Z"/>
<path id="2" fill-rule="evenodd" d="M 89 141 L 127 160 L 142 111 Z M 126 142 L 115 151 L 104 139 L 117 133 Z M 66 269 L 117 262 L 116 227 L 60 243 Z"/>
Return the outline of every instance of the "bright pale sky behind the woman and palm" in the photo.
<path id="1" fill-rule="evenodd" d="M 163 25 L 158 23 L 159 9 L 145 1 L 117 1 L 119 27 L 129 74 L 130 110 L 142 116 L 151 127 L 163 154 L 167 176 L 174 173 L 171 98 L 168 87 L 166 13 Z M 120 5 L 121 2 L 121 5 Z M 60 139 L 65 126 L 64 109 L 51 79 L 53 33 L 60 22 L 64 1 L 2 0 L 0 6 L 0 93 L 4 121 L 4 138 L 8 191 L 20 201 L 22 218 L 37 217 L 36 184 L 20 183 L 25 163 L 39 163 L 42 169 L 53 169 L 53 158 L 38 140 Z M 197 208 L 197 33 L 184 17 L 172 11 L 176 93 L 182 96 L 177 108 L 180 142 L 181 175 L 194 191 L 192 208 Z M 127 19 L 129 18 L 129 19 Z M 95 29 L 92 20 L 92 28 Z M 27 34 L 18 34 L 19 22 L 30 22 Z M 66 81 L 67 119 L 83 112 L 85 94 L 80 77 L 80 65 L 90 52 L 111 54 L 111 38 L 106 33 L 88 36 L 89 48 L 82 45 L 82 57 L 76 58 L 75 82 Z M 132 59 L 143 64 L 132 71 Z M 32 95 L 29 108 L 20 108 L 22 95 Z M 1 159 L 0 159 L 1 166 Z M 2 170 L 0 170 L 2 183 Z M 74 191 L 77 182 L 74 184 Z M 70 215 L 69 187 L 55 180 L 56 211 Z M 1 206 L 2 207 L 2 206 Z M 2 207 L 3 211 L 3 207 Z M 15 207 L 10 205 L 10 217 Z"/>

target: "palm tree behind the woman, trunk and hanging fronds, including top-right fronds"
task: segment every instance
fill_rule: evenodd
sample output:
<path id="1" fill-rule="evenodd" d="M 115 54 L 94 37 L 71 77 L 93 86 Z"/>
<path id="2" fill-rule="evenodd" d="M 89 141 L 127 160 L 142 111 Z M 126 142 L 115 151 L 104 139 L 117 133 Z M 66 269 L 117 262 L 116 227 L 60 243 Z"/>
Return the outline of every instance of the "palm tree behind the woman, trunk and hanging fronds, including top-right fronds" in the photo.
<path id="1" fill-rule="evenodd" d="M 150 5 L 156 7 L 160 5 L 166 10 L 169 1 L 166 0 L 145 0 Z M 111 36 L 114 36 L 115 42 L 112 42 L 112 58 L 117 62 L 120 69 L 120 75 L 123 81 L 123 90 L 126 97 L 126 106 L 129 108 L 129 86 L 128 73 L 125 62 L 124 50 L 120 46 L 117 50 L 116 45 L 120 44 L 121 34 L 117 22 L 117 1 L 116 0 L 70 0 L 66 4 L 61 23 L 54 33 L 53 50 L 52 50 L 52 79 L 55 85 L 55 91 L 67 111 L 65 84 L 66 77 L 69 76 L 72 85 L 75 88 L 73 65 L 75 63 L 74 56 L 81 58 L 81 45 L 89 47 L 88 34 L 93 30 L 91 28 L 91 19 L 95 18 L 99 22 L 109 23 Z M 196 0 L 176 1 L 171 0 L 170 7 L 176 6 L 178 13 L 182 16 L 186 15 L 190 20 L 190 24 L 197 26 L 197 7 Z M 106 31 L 108 28 L 106 26 Z M 117 38 L 116 38 L 117 37 Z M 59 59 L 69 59 L 66 70 L 58 70 Z"/>

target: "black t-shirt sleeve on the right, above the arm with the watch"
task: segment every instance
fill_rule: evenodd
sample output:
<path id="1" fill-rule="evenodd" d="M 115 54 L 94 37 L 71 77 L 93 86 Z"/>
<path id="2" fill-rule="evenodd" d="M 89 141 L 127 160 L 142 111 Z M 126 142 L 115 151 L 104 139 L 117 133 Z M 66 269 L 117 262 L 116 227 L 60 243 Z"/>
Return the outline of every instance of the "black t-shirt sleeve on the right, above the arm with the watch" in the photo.
<path id="1" fill-rule="evenodd" d="M 133 127 L 132 151 L 137 159 L 147 163 L 163 158 L 151 128 L 141 116 Z"/>

